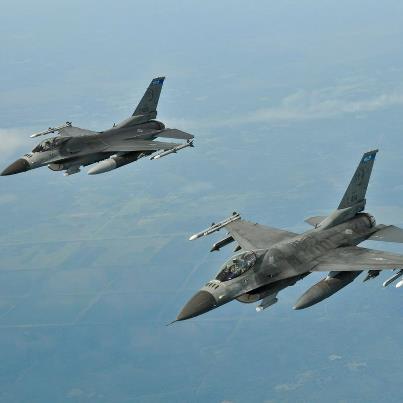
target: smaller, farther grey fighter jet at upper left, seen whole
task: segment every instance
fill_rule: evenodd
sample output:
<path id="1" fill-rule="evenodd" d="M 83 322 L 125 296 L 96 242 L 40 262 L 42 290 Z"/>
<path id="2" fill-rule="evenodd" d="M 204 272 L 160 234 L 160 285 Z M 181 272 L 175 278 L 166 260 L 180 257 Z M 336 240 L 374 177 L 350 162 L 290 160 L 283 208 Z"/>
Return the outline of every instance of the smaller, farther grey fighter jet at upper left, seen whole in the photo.
<path id="1" fill-rule="evenodd" d="M 13 162 L 1 175 L 14 175 L 47 165 L 65 175 L 80 172 L 81 166 L 96 164 L 89 175 L 100 174 L 130 164 L 160 151 L 150 159 L 193 147 L 193 136 L 177 129 L 166 129 L 157 117 L 157 104 L 165 77 L 154 78 L 133 115 L 112 128 L 95 132 L 72 126 L 71 122 L 33 134 L 38 137 L 57 132 L 56 137 L 38 144 L 32 152 Z M 186 140 L 185 143 L 155 141 L 157 138 Z"/>

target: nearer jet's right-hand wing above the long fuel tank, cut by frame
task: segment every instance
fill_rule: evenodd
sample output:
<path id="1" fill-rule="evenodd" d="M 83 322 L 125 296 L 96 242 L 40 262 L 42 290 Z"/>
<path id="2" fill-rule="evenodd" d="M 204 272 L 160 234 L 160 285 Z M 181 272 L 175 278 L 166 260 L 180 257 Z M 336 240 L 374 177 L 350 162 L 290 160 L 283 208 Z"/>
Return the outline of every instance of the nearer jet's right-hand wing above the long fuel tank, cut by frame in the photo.
<path id="1" fill-rule="evenodd" d="M 316 259 L 311 271 L 362 271 L 403 269 L 403 255 L 380 250 L 346 246 Z"/>

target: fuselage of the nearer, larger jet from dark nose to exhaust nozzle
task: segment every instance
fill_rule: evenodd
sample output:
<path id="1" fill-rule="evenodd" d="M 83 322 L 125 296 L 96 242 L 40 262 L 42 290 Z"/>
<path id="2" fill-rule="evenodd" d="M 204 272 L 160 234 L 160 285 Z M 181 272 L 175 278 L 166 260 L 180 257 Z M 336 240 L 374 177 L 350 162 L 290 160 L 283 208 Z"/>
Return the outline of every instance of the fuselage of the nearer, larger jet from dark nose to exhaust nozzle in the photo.
<path id="1" fill-rule="evenodd" d="M 234 299 L 256 302 L 262 295 L 280 287 L 294 284 L 309 274 L 316 259 L 332 249 L 358 245 L 376 232 L 372 216 L 361 213 L 342 224 L 330 228 L 317 227 L 268 249 L 244 251 L 224 264 L 217 277 L 210 280 L 182 309 L 177 320 L 185 320 L 217 308 Z M 231 272 L 231 265 L 245 253 L 255 255 L 254 264 L 242 274 L 223 281 L 222 273 Z M 228 269 L 229 268 L 229 269 Z M 221 278 L 221 280 L 220 280 Z"/>

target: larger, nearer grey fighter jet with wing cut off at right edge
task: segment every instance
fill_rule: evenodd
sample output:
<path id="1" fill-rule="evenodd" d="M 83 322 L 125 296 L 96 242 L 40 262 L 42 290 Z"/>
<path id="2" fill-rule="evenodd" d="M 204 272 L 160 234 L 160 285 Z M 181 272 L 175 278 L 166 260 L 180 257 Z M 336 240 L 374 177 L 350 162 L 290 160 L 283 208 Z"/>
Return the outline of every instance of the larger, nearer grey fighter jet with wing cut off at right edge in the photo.
<path id="1" fill-rule="evenodd" d="M 305 220 L 314 228 L 303 234 L 244 221 L 233 213 L 192 235 L 190 240 L 225 228 L 227 237 L 215 243 L 211 251 L 235 241 L 235 251 L 239 253 L 190 299 L 176 321 L 193 318 L 235 299 L 243 303 L 260 301 L 256 310 L 264 310 L 277 302 L 281 290 L 312 272 L 327 274 L 298 299 L 294 309 L 304 309 L 330 297 L 362 271 L 366 272 L 366 281 L 378 276 L 381 270 L 394 269 L 395 274 L 384 286 L 401 277 L 403 255 L 357 246 L 365 240 L 403 243 L 402 229 L 376 225 L 374 217 L 363 212 L 377 151 L 363 155 L 338 208 L 327 217 Z"/>

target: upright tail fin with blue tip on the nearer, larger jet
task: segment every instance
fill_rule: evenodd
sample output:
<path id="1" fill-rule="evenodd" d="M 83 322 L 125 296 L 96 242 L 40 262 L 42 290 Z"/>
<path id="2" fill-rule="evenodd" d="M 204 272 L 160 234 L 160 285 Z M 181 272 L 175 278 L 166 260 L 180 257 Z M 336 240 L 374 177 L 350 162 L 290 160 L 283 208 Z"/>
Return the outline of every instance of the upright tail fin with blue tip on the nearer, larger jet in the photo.
<path id="1" fill-rule="evenodd" d="M 337 208 L 338 210 L 352 207 L 359 203 L 365 206 L 365 194 L 367 193 L 368 182 L 377 152 L 378 150 L 369 151 L 362 156 L 346 193 L 344 193 Z"/>

